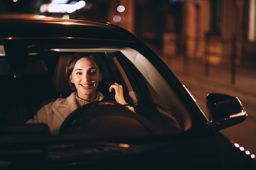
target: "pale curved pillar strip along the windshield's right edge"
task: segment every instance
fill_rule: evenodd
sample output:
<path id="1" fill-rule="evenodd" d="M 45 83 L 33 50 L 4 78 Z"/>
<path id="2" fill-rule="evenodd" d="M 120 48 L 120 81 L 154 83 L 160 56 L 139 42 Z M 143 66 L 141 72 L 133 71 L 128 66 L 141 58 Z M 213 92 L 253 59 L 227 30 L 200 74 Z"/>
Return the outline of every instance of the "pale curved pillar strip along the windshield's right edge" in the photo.
<path id="1" fill-rule="evenodd" d="M 179 121 L 182 129 L 188 130 L 191 127 L 191 119 L 188 119 L 188 110 L 186 110 L 186 107 L 184 107 L 180 98 L 173 91 L 173 88 L 171 88 L 170 84 L 168 84 L 153 64 L 133 49 L 124 49 L 121 52 L 126 55 L 141 75 L 143 75 L 150 94 L 155 104 L 157 104 L 159 113 L 164 112 L 164 115 L 169 115 L 168 117 L 173 115 Z"/>

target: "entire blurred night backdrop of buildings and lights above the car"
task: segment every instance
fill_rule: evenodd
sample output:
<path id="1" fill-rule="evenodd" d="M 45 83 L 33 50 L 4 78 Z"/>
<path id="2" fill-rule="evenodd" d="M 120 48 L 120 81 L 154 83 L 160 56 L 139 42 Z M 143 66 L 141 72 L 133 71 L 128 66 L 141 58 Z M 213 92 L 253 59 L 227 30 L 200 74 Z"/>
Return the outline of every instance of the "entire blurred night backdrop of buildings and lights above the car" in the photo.
<path id="1" fill-rule="evenodd" d="M 167 57 L 256 66 L 256 0 L 6 0 L 0 12 L 110 22 Z"/>

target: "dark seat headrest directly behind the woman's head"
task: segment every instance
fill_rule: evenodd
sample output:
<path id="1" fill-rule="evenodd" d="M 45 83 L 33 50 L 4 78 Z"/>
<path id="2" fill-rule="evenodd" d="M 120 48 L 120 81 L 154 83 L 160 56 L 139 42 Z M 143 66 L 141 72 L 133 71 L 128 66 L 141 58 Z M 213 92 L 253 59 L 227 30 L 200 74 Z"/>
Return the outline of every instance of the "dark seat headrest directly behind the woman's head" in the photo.
<path id="1" fill-rule="evenodd" d="M 54 71 L 52 83 L 54 89 L 60 93 L 61 96 L 70 95 L 70 93 L 73 92 L 65 76 L 67 62 L 70 60 L 71 56 L 72 55 L 61 55 Z"/>

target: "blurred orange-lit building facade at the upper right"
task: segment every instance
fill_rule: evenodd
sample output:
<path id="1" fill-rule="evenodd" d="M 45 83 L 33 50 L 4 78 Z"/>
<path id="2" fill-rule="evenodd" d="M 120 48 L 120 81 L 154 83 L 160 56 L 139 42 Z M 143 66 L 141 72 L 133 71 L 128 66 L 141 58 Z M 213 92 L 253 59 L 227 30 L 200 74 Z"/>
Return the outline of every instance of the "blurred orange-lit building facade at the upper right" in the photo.
<path id="1" fill-rule="evenodd" d="M 185 0 L 182 15 L 185 55 L 256 66 L 256 0 Z"/>

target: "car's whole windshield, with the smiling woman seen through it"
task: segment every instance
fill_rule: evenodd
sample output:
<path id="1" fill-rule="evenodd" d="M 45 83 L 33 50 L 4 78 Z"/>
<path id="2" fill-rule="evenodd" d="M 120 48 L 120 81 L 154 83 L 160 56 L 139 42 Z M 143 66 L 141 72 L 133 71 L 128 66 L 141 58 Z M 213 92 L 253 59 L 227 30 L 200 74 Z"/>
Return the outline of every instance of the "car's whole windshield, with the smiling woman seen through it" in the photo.
<path id="1" fill-rule="evenodd" d="M 21 48 L 24 46 L 26 49 Z M 16 48 L 17 51 L 11 51 L 10 46 L 0 44 L 0 76 L 5 80 L 1 83 L 2 125 L 16 125 L 16 128 L 13 128 L 16 131 L 20 129 L 20 125 L 29 126 L 27 128 L 29 132 L 33 126 L 34 131 L 37 129 L 38 131 L 47 131 L 46 133 L 50 135 L 58 135 L 60 129 L 63 129 L 61 124 L 67 117 L 70 117 L 70 113 L 80 109 L 78 105 L 80 91 L 72 89 L 72 84 L 70 86 L 65 75 L 68 60 L 77 53 L 88 55 L 93 53 L 99 57 L 102 70 L 99 86 L 97 86 L 97 102 L 109 97 L 110 86 L 117 83 L 122 87 L 126 101 L 122 105 L 125 107 L 119 108 L 118 105 L 112 108 L 102 104 L 97 107 L 90 104 L 87 106 L 90 108 L 83 107 L 83 110 L 86 110 L 86 117 L 79 115 L 72 118 L 74 120 L 71 123 L 69 120 L 66 124 L 70 124 L 68 125 L 70 127 L 65 127 L 66 131 L 72 133 L 80 129 L 90 131 L 88 129 L 97 127 L 99 129 L 97 132 L 99 132 L 102 128 L 109 128 L 110 124 L 111 126 L 116 124 L 109 128 L 109 133 L 106 133 L 108 130 L 101 131 L 99 136 L 115 136 L 113 135 L 115 129 L 122 127 L 124 131 L 117 134 L 120 137 L 162 135 L 188 130 L 191 127 L 189 113 L 180 98 L 153 64 L 139 51 L 120 46 L 102 47 L 81 44 L 22 44 L 21 47 Z M 141 77 L 137 77 L 138 75 Z M 141 91 L 141 87 L 144 90 L 147 89 L 147 93 Z M 70 104 L 68 102 L 70 102 L 72 94 L 74 94 L 75 102 Z M 143 99 L 145 96 L 148 96 L 150 100 L 145 101 Z M 112 96 L 108 102 L 117 101 Z M 113 103 L 111 104 L 113 105 Z M 145 106 L 150 108 L 150 111 L 144 109 Z M 126 108 L 128 109 L 123 110 Z M 80 109 L 76 112 L 82 114 L 83 110 Z M 90 112 L 92 115 L 88 118 Z M 95 112 L 99 113 L 98 116 Z M 109 115 L 101 115 L 101 112 Z M 76 119 L 88 121 L 90 128 L 88 128 L 88 124 L 86 127 L 82 126 L 81 124 L 84 123 L 79 124 Z M 74 121 L 76 121 L 75 124 L 78 124 L 76 128 L 73 125 Z M 107 124 L 106 121 L 110 124 Z M 40 128 L 38 128 L 39 125 L 41 125 Z M 148 127 L 145 128 L 145 126 Z M 85 131 L 80 130 L 79 132 Z M 93 132 L 95 133 L 95 131 Z M 89 135 L 88 137 L 99 136 Z"/>

